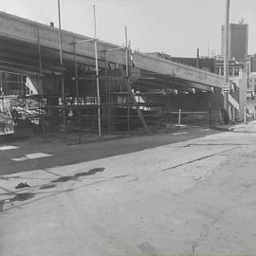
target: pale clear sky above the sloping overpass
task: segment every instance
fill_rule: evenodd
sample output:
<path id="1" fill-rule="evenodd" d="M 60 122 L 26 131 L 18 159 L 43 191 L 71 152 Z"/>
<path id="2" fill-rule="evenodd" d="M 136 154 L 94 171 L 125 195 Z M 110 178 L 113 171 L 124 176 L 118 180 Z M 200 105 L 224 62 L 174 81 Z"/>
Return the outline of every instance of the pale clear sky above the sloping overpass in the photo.
<path id="1" fill-rule="evenodd" d="M 124 27 L 133 49 L 172 56 L 220 54 L 226 0 L 61 0 L 62 27 L 124 45 Z M 249 25 L 249 54 L 256 53 L 256 1 L 230 0 L 230 23 Z M 0 0 L 0 10 L 58 26 L 58 0 Z"/>

